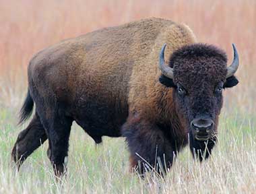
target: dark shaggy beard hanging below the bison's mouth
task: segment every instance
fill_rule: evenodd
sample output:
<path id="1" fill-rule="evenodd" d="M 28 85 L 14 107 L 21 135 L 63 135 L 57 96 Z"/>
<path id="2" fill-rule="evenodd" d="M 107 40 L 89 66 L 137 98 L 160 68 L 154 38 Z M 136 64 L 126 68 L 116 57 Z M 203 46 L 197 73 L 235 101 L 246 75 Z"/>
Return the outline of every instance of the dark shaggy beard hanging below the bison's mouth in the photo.
<path id="1" fill-rule="evenodd" d="M 200 161 L 207 159 L 211 153 L 212 148 L 216 144 L 216 137 L 209 139 L 207 141 L 198 141 L 189 133 L 189 147 L 194 158 L 198 158 Z"/>

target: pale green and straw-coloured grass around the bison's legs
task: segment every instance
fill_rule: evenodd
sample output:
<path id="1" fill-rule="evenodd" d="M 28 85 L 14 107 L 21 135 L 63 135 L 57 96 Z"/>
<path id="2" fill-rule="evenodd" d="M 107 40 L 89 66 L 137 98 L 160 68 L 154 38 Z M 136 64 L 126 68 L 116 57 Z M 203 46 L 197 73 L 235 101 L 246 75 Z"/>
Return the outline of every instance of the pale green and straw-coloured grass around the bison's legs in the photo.
<path id="1" fill-rule="evenodd" d="M 179 154 L 165 180 L 129 172 L 123 138 L 94 141 L 73 125 L 67 177 L 57 183 L 46 156 L 47 142 L 15 172 L 11 149 L 18 133 L 12 109 L 0 110 L 0 193 L 254 193 L 256 189 L 255 118 L 222 114 L 212 158 L 199 163 L 189 149 Z"/>

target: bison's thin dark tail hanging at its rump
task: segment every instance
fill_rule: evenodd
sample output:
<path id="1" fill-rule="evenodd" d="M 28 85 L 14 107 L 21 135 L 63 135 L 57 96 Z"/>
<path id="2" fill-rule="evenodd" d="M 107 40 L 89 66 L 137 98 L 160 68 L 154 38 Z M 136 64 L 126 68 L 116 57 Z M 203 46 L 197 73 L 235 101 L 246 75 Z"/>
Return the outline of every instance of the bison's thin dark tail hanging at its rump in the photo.
<path id="1" fill-rule="evenodd" d="M 34 101 L 30 96 L 30 90 L 28 90 L 26 99 L 24 101 L 22 109 L 20 110 L 20 122 L 19 122 L 19 124 L 23 123 L 24 121 L 26 121 L 30 117 L 30 115 L 32 114 L 33 106 L 34 106 Z"/>

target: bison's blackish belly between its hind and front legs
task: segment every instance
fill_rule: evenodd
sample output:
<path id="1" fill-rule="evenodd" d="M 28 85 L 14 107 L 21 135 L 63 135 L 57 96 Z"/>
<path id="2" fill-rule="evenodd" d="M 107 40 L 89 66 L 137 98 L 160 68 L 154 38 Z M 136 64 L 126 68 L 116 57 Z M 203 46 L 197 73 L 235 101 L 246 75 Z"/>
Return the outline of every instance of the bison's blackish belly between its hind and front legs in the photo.
<path id="1" fill-rule="evenodd" d="M 98 99 L 79 102 L 75 110 L 75 121 L 96 142 L 103 135 L 120 137 L 121 126 L 128 116 L 128 106 L 121 102 L 106 103 Z"/>

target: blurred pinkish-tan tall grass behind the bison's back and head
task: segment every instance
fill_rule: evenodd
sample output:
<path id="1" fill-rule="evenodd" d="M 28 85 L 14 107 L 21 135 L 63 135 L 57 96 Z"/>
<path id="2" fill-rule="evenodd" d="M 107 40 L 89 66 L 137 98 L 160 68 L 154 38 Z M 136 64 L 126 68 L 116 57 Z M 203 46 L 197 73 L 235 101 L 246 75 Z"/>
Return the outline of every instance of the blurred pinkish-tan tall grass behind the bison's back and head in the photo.
<path id="1" fill-rule="evenodd" d="M 148 17 L 187 24 L 198 42 L 215 44 L 241 65 L 240 84 L 224 92 L 225 112 L 253 114 L 256 108 L 256 1 L 187 0 L 1 0 L 0 107 L 20 110 L 32 55 L 65 38 Z M 239 114 L 240 115 L 240 114 Z"/>

